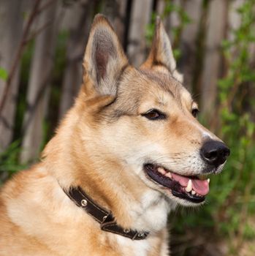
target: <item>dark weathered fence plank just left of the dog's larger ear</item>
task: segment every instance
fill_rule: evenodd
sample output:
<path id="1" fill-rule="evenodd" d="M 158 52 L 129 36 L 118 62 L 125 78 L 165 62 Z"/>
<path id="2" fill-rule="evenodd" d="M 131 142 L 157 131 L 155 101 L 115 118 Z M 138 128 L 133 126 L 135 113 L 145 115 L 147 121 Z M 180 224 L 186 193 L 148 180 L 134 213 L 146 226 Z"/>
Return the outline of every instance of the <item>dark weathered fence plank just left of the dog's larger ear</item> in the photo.
<path id="1" fill-rule="evenodd" d="M 66 49 L 66 67 L 62 83 L 61 102 L 58 118 L 64 116 L 80 89 L 83 78 L 83 56 L 85 43 L 93 18 L 94 3 L 89 1 L 77 2 L 69 10 L 66 20 L 74 17 L 74 23 L 69 28 L 69 39 Z"/>

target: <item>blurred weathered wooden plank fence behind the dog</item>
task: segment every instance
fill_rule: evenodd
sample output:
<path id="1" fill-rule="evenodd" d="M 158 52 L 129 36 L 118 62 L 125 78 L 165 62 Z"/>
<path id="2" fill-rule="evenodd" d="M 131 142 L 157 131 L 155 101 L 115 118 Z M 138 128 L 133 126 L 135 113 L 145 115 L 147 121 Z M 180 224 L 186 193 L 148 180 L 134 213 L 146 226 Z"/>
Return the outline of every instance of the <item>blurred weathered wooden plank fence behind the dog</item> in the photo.
<path id="1" fill-rule="evenodd" d="M 153 18 L 161 15 L 184 85 L 199 94 L 202 110 L 210 115 L 218 78 L 224 75 L 221 42 L 240 24 L 236 9 L 244 1 L 2 0 L 0 151 L 22 138 L 22 162 L 38 157 L 45 118 L 55 127 L 80 87 L 85 43 L 97 12 L 111 20 L 130 63 L 137 67 L 148 53 Z M 30 59 L 28 48 L 33 49 Z"/>

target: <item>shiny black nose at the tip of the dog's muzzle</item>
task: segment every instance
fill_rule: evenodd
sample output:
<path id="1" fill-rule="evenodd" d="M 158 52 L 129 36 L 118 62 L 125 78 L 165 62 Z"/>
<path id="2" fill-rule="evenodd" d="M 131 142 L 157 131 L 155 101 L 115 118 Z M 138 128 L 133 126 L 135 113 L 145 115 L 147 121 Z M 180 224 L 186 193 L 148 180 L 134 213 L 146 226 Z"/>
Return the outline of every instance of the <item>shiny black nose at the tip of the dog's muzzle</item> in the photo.
<path id="1" fill-rule="evenodd" d="M 229 157 L 230 150 L 220 141 L 208 140 L 200 149 L 200 154 L 202 159 L 209 165 L 218 167 L 226 161 L 227 157 Z"/>

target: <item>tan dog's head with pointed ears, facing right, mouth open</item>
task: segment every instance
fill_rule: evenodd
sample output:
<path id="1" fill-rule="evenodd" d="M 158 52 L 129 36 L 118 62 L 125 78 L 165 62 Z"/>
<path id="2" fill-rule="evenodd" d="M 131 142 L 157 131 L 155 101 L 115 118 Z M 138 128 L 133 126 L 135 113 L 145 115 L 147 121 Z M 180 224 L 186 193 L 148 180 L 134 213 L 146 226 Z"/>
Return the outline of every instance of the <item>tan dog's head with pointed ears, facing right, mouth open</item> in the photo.
<path id="1" fill-rule="evenodd" d="M 97 15 L 84 58 L 84 136 L 102 158 L 118 159 L 142 182 L 182 205 L 199 205 L 209 191 L 201 176 L 219 173 L 229 148 L 197 121 L 197 103 L 182 85 L 170 40 L 156 22 L 147 61 L 129 65 L 110 23 Z M 103 165 L 104 163 L 102 163 Z"/>

